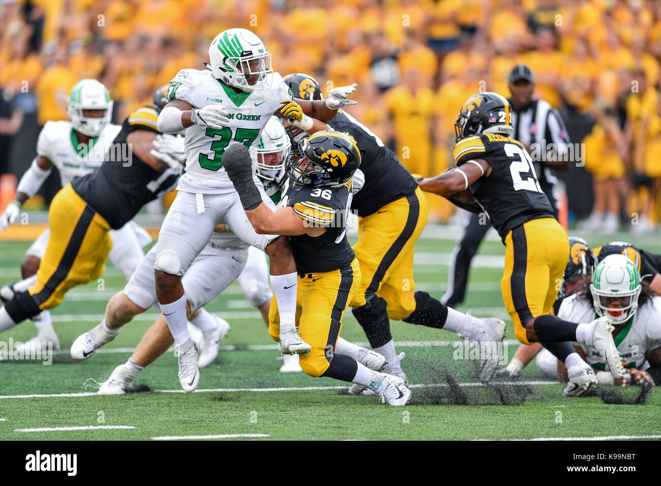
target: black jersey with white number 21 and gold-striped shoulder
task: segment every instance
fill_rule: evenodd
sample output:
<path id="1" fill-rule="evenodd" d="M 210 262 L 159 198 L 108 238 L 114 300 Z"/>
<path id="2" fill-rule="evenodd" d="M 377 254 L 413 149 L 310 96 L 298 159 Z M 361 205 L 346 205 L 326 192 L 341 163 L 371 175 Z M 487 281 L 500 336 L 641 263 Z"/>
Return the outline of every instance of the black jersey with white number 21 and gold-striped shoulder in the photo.
<path id="1" fill-rule="evenodd" d="M 457 166 L 471 159 L 484 159 L 491 165 L 490 175 L 475 181 L 471 192 L 503 242 L 511 229 L 525 222 L 553 218 L 530 155 L 518 140 L 478 134 L 457 142 L 452 155 Z"/>

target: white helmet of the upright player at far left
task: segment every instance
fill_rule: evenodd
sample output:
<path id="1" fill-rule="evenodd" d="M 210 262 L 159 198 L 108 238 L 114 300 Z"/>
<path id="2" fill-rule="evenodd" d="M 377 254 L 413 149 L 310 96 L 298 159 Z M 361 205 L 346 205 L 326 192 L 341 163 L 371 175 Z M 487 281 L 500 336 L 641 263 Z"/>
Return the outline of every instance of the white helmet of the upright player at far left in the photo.
<path id="1" fill-rule="evenodd" d="M 83 110 L 104 110 L 103 116 L 85 116 Z M 112 119 L 112 100 L 104 85 L 96 79 L 78 81 L 67 99 L 67 114 L 73 128 L 81 134 L 96 137 Z"/>

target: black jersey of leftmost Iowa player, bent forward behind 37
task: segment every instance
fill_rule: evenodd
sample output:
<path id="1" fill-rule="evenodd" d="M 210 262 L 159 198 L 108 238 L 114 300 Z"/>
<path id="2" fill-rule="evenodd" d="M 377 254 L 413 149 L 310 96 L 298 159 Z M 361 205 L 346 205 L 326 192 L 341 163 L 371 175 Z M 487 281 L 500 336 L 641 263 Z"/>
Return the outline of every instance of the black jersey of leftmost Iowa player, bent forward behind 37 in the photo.
<path id="1" fill-rule="evenodd" d="M 132 153 L 126 143 L 126 137 L 134 130 L 159 133 L 156 120 L 160 112 L 161 108 L 155 104 L 137 108 L 124 120 L 122 130 L 117 134 L 101 167 L 71 182 L 73 190 L 112 229 L 124 226 L 147 202 L 173 190 L 183 173 L 183 165 L 181 169 L 168 167 L 163 172 L 152 169 Z"/>

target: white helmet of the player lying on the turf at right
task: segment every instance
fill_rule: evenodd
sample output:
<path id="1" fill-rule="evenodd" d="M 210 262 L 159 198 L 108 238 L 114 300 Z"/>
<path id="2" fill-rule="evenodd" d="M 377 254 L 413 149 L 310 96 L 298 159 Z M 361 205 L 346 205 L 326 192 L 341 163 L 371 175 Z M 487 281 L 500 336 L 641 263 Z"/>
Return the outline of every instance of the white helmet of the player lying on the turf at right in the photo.
<path id="1" fill-rule="evenodd" d="M 641 289 L 641 274 L 624 255 L 608 255 L 592 272 L 590 292 L 594 310 L 600 317 L 611 319 L 613 324 L 626 322 L 636 313 Z M 602 297 L 628 297 L 629 300 L 623 307 L 606 307 Z"/>

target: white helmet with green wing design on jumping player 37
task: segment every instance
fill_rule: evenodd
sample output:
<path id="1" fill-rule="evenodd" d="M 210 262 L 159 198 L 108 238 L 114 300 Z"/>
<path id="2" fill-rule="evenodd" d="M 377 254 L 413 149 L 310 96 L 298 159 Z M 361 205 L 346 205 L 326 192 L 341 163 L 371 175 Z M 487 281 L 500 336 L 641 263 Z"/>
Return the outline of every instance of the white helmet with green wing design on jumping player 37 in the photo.
<path id="1" fill-rule="evenodd" d="M 209 46 L 206 66 L 216 79 L 245 92 L 271 87 L 271 54 L 260 38 L 245 28 L 230 28 L 218 34 Z M 248 80 L 255 75 L 257 80 L 251 85 Z"/>

